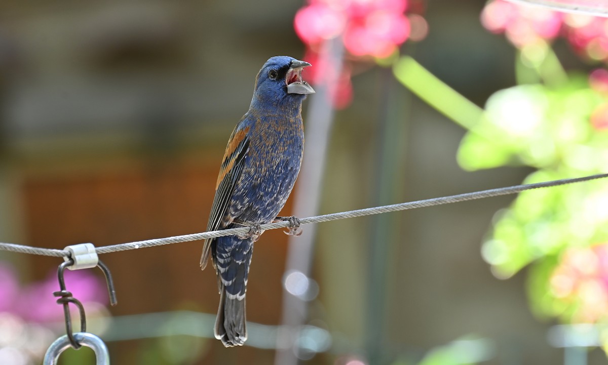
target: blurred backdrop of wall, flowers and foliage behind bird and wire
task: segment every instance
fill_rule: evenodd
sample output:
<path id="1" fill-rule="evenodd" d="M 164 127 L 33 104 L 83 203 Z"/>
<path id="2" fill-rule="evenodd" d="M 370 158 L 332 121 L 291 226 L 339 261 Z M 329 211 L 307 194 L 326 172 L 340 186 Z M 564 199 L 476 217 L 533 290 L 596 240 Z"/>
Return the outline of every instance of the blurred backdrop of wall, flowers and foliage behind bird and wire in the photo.
<path id="1" fill-rule="evenodd" d="M 607 29 L 502 0 L 2 2 L 0 241 L 204 231 L 227 138 L 273 55 L 313 63 L 305 129 L 322 123 L 327 149 L 309 162 L 318 195 L 299 202 L 317 213 L 606 172 Z M 600 364 L 606 191 L 306 225 L 308 238 L 267 231 L 240 348 L 213 338 L 202 242 L 102 255 L 116 307 L 100 270 L 66 284 L 116 364 Z M 300 238 L 314 249 L 294 271 Z M 0 253 L 0 363 L 41 363 L 64 333 L 60 263 Z M 68 350 L 60 364 L 92 357 Z"/>

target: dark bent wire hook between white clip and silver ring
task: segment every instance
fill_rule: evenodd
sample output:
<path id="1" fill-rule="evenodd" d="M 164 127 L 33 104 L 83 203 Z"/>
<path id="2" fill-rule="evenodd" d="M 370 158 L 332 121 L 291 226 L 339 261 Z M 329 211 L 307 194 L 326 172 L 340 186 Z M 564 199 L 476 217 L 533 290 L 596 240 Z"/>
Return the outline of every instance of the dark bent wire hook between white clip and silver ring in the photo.
<path id="1" fill-rule="evenodd" d="M 73 251 L 72 251 L 73 252 Z M 57 296 L 57 304 L 63 305 L 63 315 L 66 321 L 66 333 L 67 338 L 69 339 L 69 343 L 74 347 L 74 349 L 80 349 L 81 345 L 79 341 L 74 337 L 74 332 L 72 332 L 72 317 L 70 315 L 69 303 L 72 303 L 78 307 L 78 313 L 80 315 L 80 332 L 86 332 L 86 316 L 85 316 L 85 307 L 83 307 L 82 303 L 72 296 L 71 292 L 68 292 L 66 289 L 66 282 L 63 278 L 63 273 L 66 268 L 74 265 L 74 259 L 78 260 L 78 258 L 69 258 L 66 261 L 62 262 L 57 269 L 57 280 L 59 281 L 59 292 L 54 292 L 53 295 Z M 89 266 L 91 267 L 91 266 Z M 110 297 L 110 305 L 116 305 L 116 290 L 114 289 L 114 281 L 112 281 L 112 275 L 108 270 L 108 267 L 103 264 L 102 261 L 97 260 L 97 267 L 99 267 L 103 275 L 106 277 L 106 284 L 108 286 L 108 294 Z"/>

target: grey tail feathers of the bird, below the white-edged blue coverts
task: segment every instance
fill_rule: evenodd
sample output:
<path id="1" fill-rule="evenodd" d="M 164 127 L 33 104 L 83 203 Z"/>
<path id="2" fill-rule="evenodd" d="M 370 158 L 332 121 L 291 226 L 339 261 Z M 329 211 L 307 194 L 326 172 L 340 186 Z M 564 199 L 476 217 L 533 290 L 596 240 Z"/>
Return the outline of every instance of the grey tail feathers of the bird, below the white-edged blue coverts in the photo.
<path id="1" fill-rule="evenodd" d="M 233 296 L 226 293 L 226 287 L 221 285 L 218 316 L 215 319 L 215 338 L 222 341 L 224 346 L 241 346 L 247 339 L 245 323 L 245 295 Z"/>

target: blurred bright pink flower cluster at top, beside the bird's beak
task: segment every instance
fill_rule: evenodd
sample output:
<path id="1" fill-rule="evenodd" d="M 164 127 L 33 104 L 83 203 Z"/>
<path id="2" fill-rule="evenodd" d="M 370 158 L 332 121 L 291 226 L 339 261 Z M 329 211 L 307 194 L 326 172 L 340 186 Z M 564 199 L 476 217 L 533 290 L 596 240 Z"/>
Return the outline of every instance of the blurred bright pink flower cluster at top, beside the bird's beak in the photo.
<path id="1" fill-rule="evenodd" d="M 294 27 L 306 44 L 305 60 L 313 64 L 307 77 L 313 84 L 335 85 L 330 97 L 336 108 L 350 104 L 353 97 L 351 75 L 353 64 L 373 58 L 387 58 L 398 52 L 407 39 L 420 41 L 426 36 L 427 24 L 417 14 L 406 15 L 410 5 L 420 0 L 308 0 L 295 14 Z M 347 51 L 339 75 L 335 67 L 319 63 L 322 44 L 340 38 Z"/>

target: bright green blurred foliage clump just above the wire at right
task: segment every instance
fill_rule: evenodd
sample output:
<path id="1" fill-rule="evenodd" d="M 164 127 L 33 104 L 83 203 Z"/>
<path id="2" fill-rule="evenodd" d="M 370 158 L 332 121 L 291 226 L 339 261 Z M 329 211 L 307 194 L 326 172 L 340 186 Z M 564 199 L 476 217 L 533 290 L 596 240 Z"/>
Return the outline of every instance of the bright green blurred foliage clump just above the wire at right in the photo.
<path id="1" fill-rule="evenodd" d="M 500 90 L 488 99 L 485 118 L 463 138 L 458 162 L 469 170 L 519 163 L 566 176 L 599 172 L 607 160 L 608 133 L 589 120 L 602 101 L 582 77 L 556 88 Z"/>

